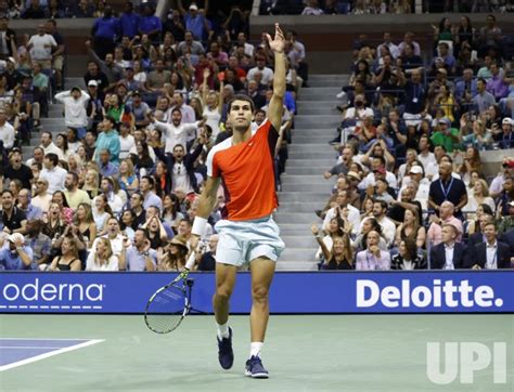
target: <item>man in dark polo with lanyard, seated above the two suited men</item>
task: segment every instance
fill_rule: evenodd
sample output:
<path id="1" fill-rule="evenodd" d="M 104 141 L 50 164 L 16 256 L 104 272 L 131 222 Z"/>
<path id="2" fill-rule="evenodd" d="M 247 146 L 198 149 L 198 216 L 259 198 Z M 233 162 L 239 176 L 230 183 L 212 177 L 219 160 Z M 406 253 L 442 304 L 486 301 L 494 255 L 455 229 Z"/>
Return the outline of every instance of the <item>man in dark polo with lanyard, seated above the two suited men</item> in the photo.
<path id="1" fill-rule="evenodd" d="M 453 167 L 450 162 L 439 165 L 439 179 L 433 181 L 428 193 L 428 207 L 439 213 L 444 201 L 451 201 L 457 215 L 462 217 L 461 209 L 467 204 L 466 185 L 451 175 Z"/>

